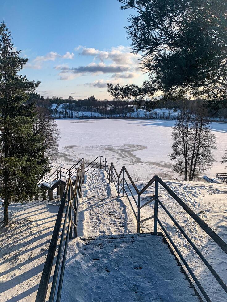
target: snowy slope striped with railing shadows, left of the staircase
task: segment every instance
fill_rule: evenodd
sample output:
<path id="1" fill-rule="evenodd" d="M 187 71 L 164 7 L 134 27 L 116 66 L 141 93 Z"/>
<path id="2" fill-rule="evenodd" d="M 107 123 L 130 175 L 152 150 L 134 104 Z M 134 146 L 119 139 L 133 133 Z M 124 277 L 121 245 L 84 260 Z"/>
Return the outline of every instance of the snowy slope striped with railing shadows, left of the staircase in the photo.
<path id="1" fill-rule="evenodd" d="M 9 206 L 12 224 L 0 229 L 0 301 L 35 301 L 59 207 L 55 201 Z M 0 208 L 3 217 L 4 207 Z"/>

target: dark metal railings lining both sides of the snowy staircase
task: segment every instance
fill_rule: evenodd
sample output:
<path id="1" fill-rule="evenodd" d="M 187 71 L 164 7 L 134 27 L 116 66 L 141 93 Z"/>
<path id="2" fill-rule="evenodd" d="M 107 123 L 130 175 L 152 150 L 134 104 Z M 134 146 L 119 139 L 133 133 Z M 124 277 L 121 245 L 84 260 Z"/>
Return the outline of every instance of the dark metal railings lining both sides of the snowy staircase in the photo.
<path id="1" fill-rule="evenodd" d="M 65 236 L 67 218 L 68 218 L 68 221 L 69 221 L 68 229 L 67 229 L 65 248 L 64 248 L 63 260 L 62 260 L 62 265 L 61 265 L 61 274 L 60 274 L 60 280 L 58 283 L 58 290 L 57 290 L 57 300 L 56 300 L 56 301 L 60 301 L 68 241 L 69 241 L 69 239 L 72 239 L 77 236 L 76 219 L 77 219 L 77 210 L 78 210 L 78 198 L 81 197 L 82 184 L 84 181 L 84 173 L 85 173 L 85 171 L 88 172 L 91 169 L 92 169 L 92 171 L 94 171 L 95 169 L 101 169 L 101 168 L 104 168 L 104 170 L 106 171 L 108 181 L 110 183 L 114 184 L 116 191 L 117 191 L 117 195 L 119 196 L 120 193 L 122 192 L 122 196 L 126 196 L 128 198 L 128 201 L 132 207 L 133 213 L 137 220 L 137 232 L 140 233 L 141 223 L 143 223 L 149 219 L 154 219 L 153 234 L 158 235 L 157 226 L 159 224 L 160 228 L 163 230 L 164 234 L 166 235 L 166 238 L 169 240 L 170 244 L 174 247 L 176 253 L 178 254 L 179 258 L 181 259 L 181 261 L 183 262 L 185 267 L 187 268 L 188 273 L 191 275 L 191 278 L 194 280 L 195 284 L 200 289 L 200 292 L 202 293 L 202 295 L 204 296 L 204 299 L 206 301 L 211 302 L 207 292 L 201 285 L 198 278 L 195 276 L 194 272 L 192 271 L 190 265 L 187 263 L 187 261 L 183 257 L 179 248 L 174 243 L 173 239 L 171 238 L 171 235 L 168 233 L 168 231 L 164 227 L 163 223 L 161 222 L 161 219 L 158 217 L 158 209 L 164 210 L 165 213 L 170 217 L 170 219 L 174 222 L 174 225 L 178 228 L 178 230 L 185 237 L 187 242 L 191 245 L 191 247 L 193 248 L 195 253 L 200 257 L 202 262 L 206 265 L 208 270 L 212 273 L 212 275 L 215 277 L 217 282 L 221 285 L 221 287 L 227 293 L 227 285 L 223 282 L 221 277 L 217 274 L 217 272 L 214 270 L 214 268 L 210 265 L 210 263 L 204 257 L 204 255 L 202 255 L 202 253 L 196 247 L 195 243 L 192 242 L 192 240 L 189 238 L 189 236 L 186 234 L 186 232 L 183 230 L 183 228 L 179 225 L 179 223 L 173 217 L 173 215 L 170 214 L 169 210 L 164 205 L 164 202 L 160 201 L 159 196 L 158 196 L 159 186 L 162 186 L 170 194 L 170 196 L 172 198 L 174 198 L 174 200 L 182 207 L 182 209 L 187 214 L 190 215 L 190 217 L 195 221 L 195 223 L 197 223 L 205 231 L 205 233 L 225 252 L 225 254 L 227 254 L 227 244 L 224 242 L 224 240 L 222 240 L 221 237 L 219 237 L 197 214 L 195 214 L 195 212 L 193 210 L 191 210 L 191 208 L 189 206 L 187 206 L 187 204 L 177 194 L 175 194 L 173 192 L 173 190 L 171 190 L 170 187 L 165 182 L 163 182 L 163 180 L 161 178 L 159 178 L 157 175 L 153 176 L 153 178 L 144 186 L 144 188 L 139 190 L 137 188 L 137 186 L 135 185 L 135 183 L 133 182 L 132 177 L 128 173 L 125 166 L 122 166 L 120 173 L 117 173 L 116 168 L 113 165 L 113 163 L 111 163 L 111 165 L 109 166 L 107 163 L 106 157 L 100 155 L 100 156 L 96 157 L 95 160 L 92 161 L 89 165 L 86 165 L 86 167 L 84 166 L 84 161 L 82 161 L 82 165 L 80 167 L 78 167 L 78 170 L 77 170 L 77 178 L 76 178 L 74 190 L 73 190 L 71 179 L 70 178 L 67 179 L 63 198 L 61 199 L 61 205 L 59 207 L 59 211 L 57 214 L 57 219 L 56 219 L 53 235 L 51 238 L 51 243 L 49 246 L 47 259 L 46 259 L 46 262 L 44 265 L 44 270 L 42 273 L 38 293 L 36 296 L 36 302 L 44 302 L 45 298 L 46 298 L 51 269 L 53 266 L 54 254 L 55 254 L 55 251 L 57 248 L 57 239 L 58 239 L 60 228 L 61 228 L 61 220 L 63 217 L 64 207 L 67 202 L 66 198 L 68 198 L 68 206 L 66 209 L 63 230 L 61 233 L 59 251 L 57 254 L 57 261 L 56 261 L 56 265 L 55 265 L 55 271 L 54 271 L 51 293 L 50 293 L 50 298 L 49 298 L 49 301 L 53 302 L 54 296 L 55 296 L 55 291 L 56 291 L 57 275 L 58 275 L 58 271 L 59 271 L 59 267 L 60 267 L 61 253 L 62 253 L 62 249 L 63 249 L 63 241 L 64 241 L 64 236 Z M 142 194 L 153 183 L 155 184 L 154 196 L 149 201 L 141 204 Z M 135 193 L 133 194 L 132 191 L 135 191 Z M 130 199 L 130 197 L 132 198 L 132 200 Z M 73 199 L 73 203 L 72 203 L 72 199 Z M 136 210 L 134 209 L 132 202 L 135 203 Z M 141 218 L 140 218 L 141 209 L 143 207 L 145 207 L 146 205 L 150 204 L 151 202 L 154 202 L 154 214 L 148 218 L 141 220 Z M 74 212 L 74 216 L 72 216 L 72 210 Z M 72 219 L 72 217 L 74 217 L 74 219 Z M 72 225 L 74 226 L 74 236 L 72 233 Z"/>

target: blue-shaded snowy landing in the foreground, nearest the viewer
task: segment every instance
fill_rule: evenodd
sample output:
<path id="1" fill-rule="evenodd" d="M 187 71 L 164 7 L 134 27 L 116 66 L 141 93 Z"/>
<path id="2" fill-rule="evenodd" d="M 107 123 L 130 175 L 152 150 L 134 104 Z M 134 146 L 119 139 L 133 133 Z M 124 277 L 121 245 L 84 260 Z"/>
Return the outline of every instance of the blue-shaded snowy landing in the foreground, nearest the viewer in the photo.
<path id="1" fill-rule="evenodd" d="M 162 237 L 126 234 L 70 241 L 61 301 L 199 299 Z"/>

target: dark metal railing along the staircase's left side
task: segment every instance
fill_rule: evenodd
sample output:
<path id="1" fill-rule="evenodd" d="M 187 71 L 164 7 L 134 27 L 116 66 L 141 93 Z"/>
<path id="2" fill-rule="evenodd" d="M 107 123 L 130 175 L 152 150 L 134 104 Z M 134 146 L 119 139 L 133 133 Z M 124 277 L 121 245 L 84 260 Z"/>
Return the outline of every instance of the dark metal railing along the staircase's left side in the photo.
<path id="1" fill-rule="evenodd" d="M 77 164 L 78 165 L 78 164 Z M 54 301 L 55 292 L 57 288 L 57 298 L 56 301 L 60 301 L 61 299 L 61 288 L 63 283 L 63 276 L 64 276 L 64 270 L 65 270 L 65 261 L 66 261 L 66 255 L 67 255 L 67 248 L 68 248 L 68 242 L 69 239 L 73 239 L 77 237 L 77 210 L 78 210 L 78 199 L 82 196 L 82 184 L 84 182 L 84 163 L 82 162 L 82 165 L 77 168 L 76 173 L 76 182 L 75 187 L 73 188 L 72 181 L 70 178 L 67 178 L 65 190 L 63 197 L 61 199 L 61 204 L 58 210 L 57 219 L 55 222 L 53 235 L 51 238 L 50 246 L 48 249 L 47 258 L 44 264 L 43 273 L 40 280 L 40 285 L 38 288 L 37 296 L 36 296 L 36 302 L 44 302 L 47 295 L 50 275 L 53 267 L 53 260 L 57 248 L 57 242 L 58 237 L 61 229 L 61 222 L 63 218 L 64 208 L 66 203 L 67 208 L 65 212 L 65 219 L 64 224 L 61 232 L 61 239 L 59 243 L 58 253 L 57 253 L 57 259 L 55 263 L 55 269 L 54 269 L 54 275 L 53 275 L 53 281 L 50 291 L 50 297 L 49 302 Z M 67 235 L 65 239 L 65 231 L 67 226 L 67 220 L 68 220 L 68 228 L 67 228 Z M 74 228 L 73 228 L 74 227 Z M 64 245 L 64 239 L 65 239 L 65 246 L 64 246 L 64 252 L 63 252 L 63 258 L 61 263 L 61 272 L 60 277 L 58 281 L 57 286 L 57 279 L 58 279 L 58 273 L 60 268 L 60 262 L 61 262 L 61 255 L 63 251 L 63 245 Z"/>

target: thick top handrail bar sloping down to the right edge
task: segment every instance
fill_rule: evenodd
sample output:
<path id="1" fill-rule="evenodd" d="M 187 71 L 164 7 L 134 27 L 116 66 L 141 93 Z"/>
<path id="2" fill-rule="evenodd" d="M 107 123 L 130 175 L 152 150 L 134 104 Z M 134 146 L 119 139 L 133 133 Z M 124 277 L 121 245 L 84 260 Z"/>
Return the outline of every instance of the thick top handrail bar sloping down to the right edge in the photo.
<path id="1" fill-rule="evenodd" d="M 185 203 L 165 182 L 158 176 L 158 182 L 163 186 L 164 189 L 179 203 L 179 205 L 197 222 L 197 224 L 217 243 L 219 247 L 227 254 L 227 243 L 221 239 L 193 210 Z"/>

